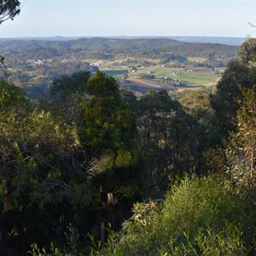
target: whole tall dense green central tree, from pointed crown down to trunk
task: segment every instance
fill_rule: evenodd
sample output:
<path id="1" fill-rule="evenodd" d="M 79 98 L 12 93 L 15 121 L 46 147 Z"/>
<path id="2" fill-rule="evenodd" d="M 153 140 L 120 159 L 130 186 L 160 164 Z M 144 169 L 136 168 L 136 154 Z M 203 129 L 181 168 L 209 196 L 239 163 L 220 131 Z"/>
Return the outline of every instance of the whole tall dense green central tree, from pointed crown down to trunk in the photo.
<path id="1" fill-rule="evenodd" d="M 88 79 L 87 92 L 79 138 L 92 164 L 88 173 L 101 196 L 98 221 L 111 223 L 116 230 L 129 216 L 131 201 L 143 191 L 136 115 L 122 99 L 115 79 L 104 73 L 97 72 Z"/>

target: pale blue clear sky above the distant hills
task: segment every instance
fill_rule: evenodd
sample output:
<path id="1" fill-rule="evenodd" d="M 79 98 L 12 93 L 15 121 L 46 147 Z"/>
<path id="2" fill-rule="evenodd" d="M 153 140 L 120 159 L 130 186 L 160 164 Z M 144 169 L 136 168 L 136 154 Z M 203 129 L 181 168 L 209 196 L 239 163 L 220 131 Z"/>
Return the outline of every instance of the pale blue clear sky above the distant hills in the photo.
<path id="1" fill-rule="evenodd" d="M 256 0 L 21 0 L 0 38 L 100 36 L 255 37 Z"/>

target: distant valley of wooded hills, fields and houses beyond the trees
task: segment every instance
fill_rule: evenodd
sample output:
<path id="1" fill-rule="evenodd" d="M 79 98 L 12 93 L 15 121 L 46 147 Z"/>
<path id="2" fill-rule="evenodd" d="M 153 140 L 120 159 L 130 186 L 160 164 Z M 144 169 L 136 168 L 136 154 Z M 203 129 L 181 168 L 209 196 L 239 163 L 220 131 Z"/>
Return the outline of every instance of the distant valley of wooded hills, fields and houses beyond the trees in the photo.
<path id="1" fill-rule="evenodd" d="M 188 44 L 167 38 L 5 39 L 0 40 L 0 55 L 4 55 L 0 78 L 37 98 L 48 96 L 50 84 L 60 75 L 80 70 L 101 70 L 118 79 L 121 88 L 137 92 L 150 86 L 145 89 L 133 79 L 153 80 L 162 89 L 177 90 L 216 84 L 237 50 L 225 44 Z"/>

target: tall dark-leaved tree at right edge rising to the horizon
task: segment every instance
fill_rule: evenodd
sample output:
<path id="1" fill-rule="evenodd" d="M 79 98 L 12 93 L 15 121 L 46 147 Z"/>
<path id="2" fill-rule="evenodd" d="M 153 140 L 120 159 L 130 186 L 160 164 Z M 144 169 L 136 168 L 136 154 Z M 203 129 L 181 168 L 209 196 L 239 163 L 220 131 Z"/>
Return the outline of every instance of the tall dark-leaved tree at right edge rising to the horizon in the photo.
<path id="1" fill-rule="evenodd" d="M 211 95 L 212 108 L 216 111 L 216 129 L 219 138 L 227 137 L 229 131 L 234 131 L 233 119 L 236 118 L 236 111 L 239 108 L 244 89 L 253 88 L 256 84 L 255 66 L 252 65 L 255 58 L 253 49 L 254 40 L 249 39 L 240 49 L 236 59 L 230 61 L 225 68 L 222 79 L 217 84 L 217 91 Z M 219 143 L 219 142 L 218 142 Z"/>

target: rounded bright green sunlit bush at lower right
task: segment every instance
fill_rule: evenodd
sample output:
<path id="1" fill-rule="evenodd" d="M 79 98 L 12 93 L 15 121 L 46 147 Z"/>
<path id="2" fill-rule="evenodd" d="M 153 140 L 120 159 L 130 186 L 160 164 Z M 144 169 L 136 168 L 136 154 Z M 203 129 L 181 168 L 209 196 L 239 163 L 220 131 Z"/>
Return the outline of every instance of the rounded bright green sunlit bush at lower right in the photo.
<path id="1" fill-rule="evenodd" d="M 214 177 L 185 178 L 167 192 L 161 221 L 171 225 L 169 232 L 183 236 L 181 231 L 190 235 L 204 225 L 221 229 L 225 220 L 243 223 L 244 211 L 242 198 L 229 184 Z"/>

